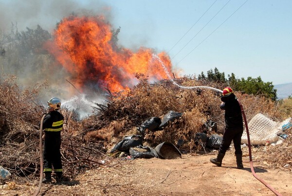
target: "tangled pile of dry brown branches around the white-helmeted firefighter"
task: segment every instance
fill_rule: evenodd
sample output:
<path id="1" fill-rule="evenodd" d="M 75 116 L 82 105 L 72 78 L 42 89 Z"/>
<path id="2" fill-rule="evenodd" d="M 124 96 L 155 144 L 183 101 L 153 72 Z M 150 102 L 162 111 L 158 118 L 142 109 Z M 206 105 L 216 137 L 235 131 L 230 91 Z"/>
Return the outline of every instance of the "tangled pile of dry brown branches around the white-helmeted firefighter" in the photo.
<path id="1" fill-rule="evenodd" d="M 39 177 L 39 123 L 45 108 L 37 101 L 41 87 L 21 89 L 15 76 L 0 81 L 0 165 L 10 171 L 12 178 L 31 181 Z M 64 109 L 62 131 L 62 161 L 67 176 L 74 178 L 85 169 L 97 168 L 100 160 L 108 158 L 103 144 L 85 143 L 78 134 L 80 122 L 72 120 L 74 113 Z M 106 151 L 105 151 L 106 152 Z"/>

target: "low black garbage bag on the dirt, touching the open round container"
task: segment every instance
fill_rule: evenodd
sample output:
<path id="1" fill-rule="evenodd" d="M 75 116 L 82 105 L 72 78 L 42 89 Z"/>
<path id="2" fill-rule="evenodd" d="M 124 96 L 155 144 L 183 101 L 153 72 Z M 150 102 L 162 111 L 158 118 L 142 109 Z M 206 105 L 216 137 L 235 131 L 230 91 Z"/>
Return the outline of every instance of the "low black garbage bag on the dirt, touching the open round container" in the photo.
<path id="1" fill-rule="evenodd" d="M 149 158 L 159 157 L 154 148 L 151 148 L 148 146 L 142 146 L 142 145 L 130 147 L 129 154 L 133 159 L 138 159 L 138 158 L 149 159 Z"/>

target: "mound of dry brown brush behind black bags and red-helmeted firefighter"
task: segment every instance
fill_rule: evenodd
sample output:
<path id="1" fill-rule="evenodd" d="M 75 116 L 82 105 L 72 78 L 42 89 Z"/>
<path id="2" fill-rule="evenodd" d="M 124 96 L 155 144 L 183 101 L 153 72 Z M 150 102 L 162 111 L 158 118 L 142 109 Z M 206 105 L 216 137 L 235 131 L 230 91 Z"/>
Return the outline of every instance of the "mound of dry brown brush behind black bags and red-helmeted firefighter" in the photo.
<path id="1" fill-rule="evenodd" d="M 201 81 L 185 78 L 176 80 L 176 83 L 182 86 L 204 85 Z M 213 84 L 212 87 L 220 88 L 216 84 Z M 248 121 L 259 112 L 275 121 L 283 120 L 280 112 L 275 109 L 273 101 L 260 96 L 235 93 L 245 109 Z M 133 127 L 138 127 L 147 118 L 160 117 L 162 119 L 168 111 L 173 110 L 181 112 L 182 117 L 164 127 L 163 130 L 146 131 L 145 141 L 155 146 L 165 141 L 177 144 L 179 140 L 183 140 L 181 148 L 190 149 L 194 147 L 195 134 L 202 131 L 202 125 L 206 120 L 217 122 L 218 132 L 223 133 L 224 111 L 219 109 L 220 102 L 218 93 L 210 89 L 183 89 L 171 81 L 149 84 L 145 79 L 141 79 L 140 83 L 127 94 L 113 95 L 107 109 L 103 110 L 101 115 L 91 116 L 87 119 L 84 129 L 91 128 L 94 124 L 92 121 L 102 121 L 104 126 L 110 126 L 110 122 L 113 120 L 123 120 L 125 122 L 123 130 L 118 136 L 119 139 L 122 139 L 129 130 L 132 131 Z M 95 135 L 96 131 L 104 131 L 101 127 L 96 127 L 96 129 Z"/>

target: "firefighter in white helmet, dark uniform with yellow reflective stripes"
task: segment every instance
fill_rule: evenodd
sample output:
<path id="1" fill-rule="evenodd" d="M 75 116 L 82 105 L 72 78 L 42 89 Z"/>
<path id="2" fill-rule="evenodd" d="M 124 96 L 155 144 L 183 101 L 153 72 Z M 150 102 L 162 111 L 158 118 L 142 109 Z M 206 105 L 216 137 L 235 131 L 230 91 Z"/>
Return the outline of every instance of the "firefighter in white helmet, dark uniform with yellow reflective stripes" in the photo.
<path id="1" fill-rule="evenodd" d="M 58 111 L 61 100 L 54 97 L 48 101 L 48 112 L 43 120 L 44 129 L 44 174 L 43 183 L 52 182 L 52 165 L 56 174 L 56 181 L 60 182 L 63 176 L 61 161 L 61 131 L 63 128 L 63 115 Z"/>

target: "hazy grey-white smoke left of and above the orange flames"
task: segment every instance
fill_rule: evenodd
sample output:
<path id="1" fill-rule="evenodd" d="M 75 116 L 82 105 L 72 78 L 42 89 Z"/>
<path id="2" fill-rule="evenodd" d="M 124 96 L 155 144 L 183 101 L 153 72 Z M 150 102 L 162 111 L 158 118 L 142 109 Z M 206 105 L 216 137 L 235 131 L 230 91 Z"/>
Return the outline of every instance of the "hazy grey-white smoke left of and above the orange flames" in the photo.
<path id="1" fill-rule="evenodd" d="M 0 0 L 0 7 L 0 49 L 5 49 L 5 55 L 0 55 L 1 73 L 16 75 L 18 83 L 24 88 L 47 83 L 39 97 L 45 107 L 48 100 L 58 97 L 62 100 L 62 106 L 74 109 L 81 119 L 90 115 L 94 103 L 104 101 L 104 92 L 83 89 L 84 94 L 81 94 L 70 80 L 66 80 L 69 78 L 68 72 L 56 65 L 52 56 L 39 52 L 37 55 L 31 54 L 28 46 L 34 43 L 13 42 L 6 35 L 11 32 L 14 35 L 18 32 L 23 37 L 34 35 L 22 34 L 27 32 L 27 28 L 38 31 L 37 35 L 47 36 L 46 31 L 53 35 L 56 24 L 64 17 L 98 14 L 111 19 L 110 8 L 99 0 Z M 39 33 L 38 29 L 43 33 Z"/>

